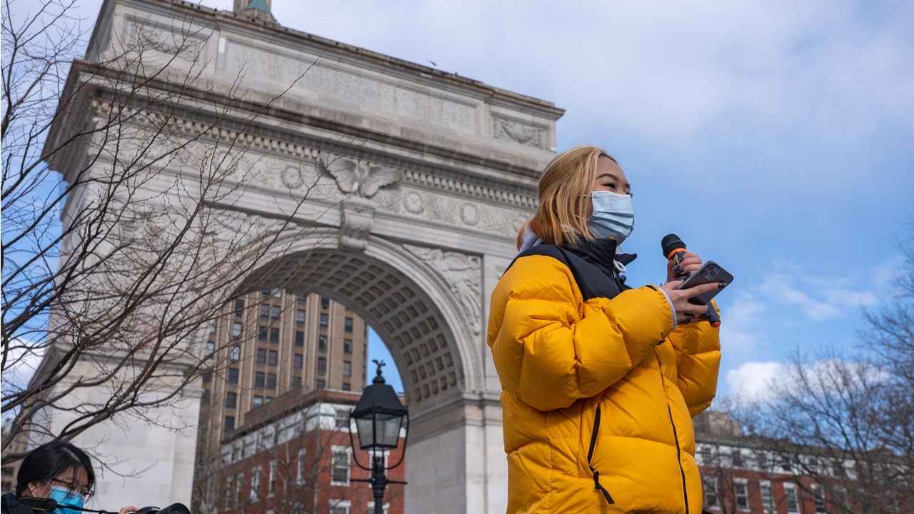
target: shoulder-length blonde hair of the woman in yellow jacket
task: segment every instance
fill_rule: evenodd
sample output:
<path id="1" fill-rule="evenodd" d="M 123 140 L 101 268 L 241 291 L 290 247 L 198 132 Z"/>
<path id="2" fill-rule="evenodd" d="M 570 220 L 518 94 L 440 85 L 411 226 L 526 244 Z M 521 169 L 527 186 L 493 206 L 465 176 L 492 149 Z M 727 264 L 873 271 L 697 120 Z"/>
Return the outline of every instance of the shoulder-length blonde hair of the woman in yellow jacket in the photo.
<path id="1" fill-rule="evenodd" d="M 549 162 L 539 177 L 537 213 L 517 233 L 518 249 L 527 228 L 546 244 L 577 246 L 581 238 L 593 241 L 587 228 L 587 211 L 601 156 L 618 164 L 597 146 L 572 148 Z"/>

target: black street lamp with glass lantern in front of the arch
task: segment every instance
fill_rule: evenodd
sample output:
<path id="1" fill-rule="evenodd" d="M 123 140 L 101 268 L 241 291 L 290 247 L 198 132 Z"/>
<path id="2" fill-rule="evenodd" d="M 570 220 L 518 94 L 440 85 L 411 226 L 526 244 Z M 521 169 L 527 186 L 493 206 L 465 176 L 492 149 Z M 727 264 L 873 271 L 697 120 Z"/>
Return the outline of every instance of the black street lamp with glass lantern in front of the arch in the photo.
<path id="1" fill-rule="evenodd" d="M 384 466 L 384 452 L 393 450 L 399 444 L 399 431 L 406 419 L 406 432 L 409 436 L 409 412 L 400 403 L 394 388 L 384 383 L 381 368 L 384 361 L 377 364 L 377 376 L 370 386 L 362 391 L 362 397 L 356 403 L 356 409 L 349 413 L 349 443 L 352 444 L 353 457 L 356 466 L 371 471 L 371 478 L 353 478 L 354 482 L 367 482 L 375 493 L 375 514 L 384 514 L 384 489 L 388 484 L 406 484 L 399 480 L 388 480 L 386 471 L 393 469 L 403 462 L 406 454 L 406 437 L 403 438 L 403 452 L 400 459 L 393 466 Z M 356 442 L 352 437 L 352 420 L 356 420 L 358 442 L 363 450 L 371 451 L 371 467 L 362 466 L 356 454 Z"/>

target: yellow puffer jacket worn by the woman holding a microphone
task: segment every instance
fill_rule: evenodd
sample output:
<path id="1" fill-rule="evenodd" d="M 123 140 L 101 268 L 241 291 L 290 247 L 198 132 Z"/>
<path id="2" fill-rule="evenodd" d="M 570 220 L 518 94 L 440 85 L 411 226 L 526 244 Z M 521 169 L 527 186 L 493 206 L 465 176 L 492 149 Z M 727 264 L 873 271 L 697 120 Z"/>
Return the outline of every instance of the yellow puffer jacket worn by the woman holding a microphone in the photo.
<path id="1" fill-rule="evenodd" d="M 585 298 L 579 270 L 523 255 L 494 288 L 488 328 L 504 390 L 508 512 L 699 514 L 691 417 L 717 390 L 717 329 L 673 330 L 652 286 Z"/>

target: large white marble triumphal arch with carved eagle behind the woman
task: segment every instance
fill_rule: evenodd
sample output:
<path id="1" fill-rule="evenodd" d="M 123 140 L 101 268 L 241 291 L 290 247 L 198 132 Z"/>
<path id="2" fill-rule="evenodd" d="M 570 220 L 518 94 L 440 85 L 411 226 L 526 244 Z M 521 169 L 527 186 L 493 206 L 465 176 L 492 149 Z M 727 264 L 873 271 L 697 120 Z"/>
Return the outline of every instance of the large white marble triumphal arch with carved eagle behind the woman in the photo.
<path id="1" fill-rule="evenodd" d="M 143 55 L 124 47 L 130 42 L 142 44 Z M 168 200 L 180 203 L 168 191 L 175 177 L 222 162 L 227 154 L 218 141 L 244 141 L 248 151 L 228 155 L 225 162 L 237 170 L 224 179 L 244 176 L 248 185 L 207 206 L 222 220 L 213 237 L 256 241 L 279 231 L 282 252 L 262 255 L 250 281 L 324 291 L 377 328 L 397 359 L 413 412 L 408 512 L 504 512 L 500 386 L 485 346 L 487 303 L 515 255 L 517 227 L 536 208 L 538 172 L 555 154 L 562 110 L 230 12 L 180 0 L 105 0 L 90 50 L 73 66 L 65 92 L 82 89 L 51 128 L 49 144 L 92 126 L 105 102 L 111 108 L 130 90 L 122 87 L 129 77 L 116 68 L 123 56 L 142 66 L 169 62 L 143 83 L 142 94 L 161 100 L 175 87 L 193 93 L 169 122 L 169 144 L 179 150 L 155 168 L 138 198 L 172 195 Z M 181 81 L 188 76 L 192 83 Z M 136 119 L 123 130 L 136 129 L 142 140 L 143 116 Z M 87 146 L 70 145 L 48 164 L 69 180 L 86 162 Z M 118 158 L 101 158 L 98 166 Z M 80 209 L 80 201 L 67 209 Z M 193 420 L 198 398 L 186 394 L 192 402 L 179 415 Z M 147 503 L 188 501 L 196 437 L 173 432 L 149 427 L 148 447 L 119 427 L 104 433 L 107 453 L 155 464 L 153 474 L 126 484 L 112 478 L 112 487 L 142 487 Z"/>

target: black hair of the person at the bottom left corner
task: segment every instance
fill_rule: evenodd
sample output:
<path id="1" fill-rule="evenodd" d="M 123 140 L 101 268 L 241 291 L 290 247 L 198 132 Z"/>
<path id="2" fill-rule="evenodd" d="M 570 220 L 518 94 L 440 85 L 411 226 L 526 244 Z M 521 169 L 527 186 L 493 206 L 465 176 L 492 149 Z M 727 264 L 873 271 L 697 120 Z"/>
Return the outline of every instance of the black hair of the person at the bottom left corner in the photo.
<path id="1" fill-rule="evenodd" d="M 86 452 L 63 441 L 42 444 L 29 452 L 23 459 L 22 466 L 19 466 L 19 474 L 16 475 L 16 496 L 21 497 L 32 482 L 50 480 L 70 469 L 80 467 L 86 470 L 88 487 L 95 488 L 95 472 L 92 471 L 92 461 Z"/>

